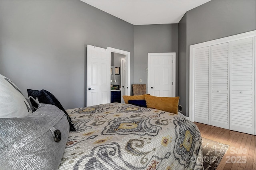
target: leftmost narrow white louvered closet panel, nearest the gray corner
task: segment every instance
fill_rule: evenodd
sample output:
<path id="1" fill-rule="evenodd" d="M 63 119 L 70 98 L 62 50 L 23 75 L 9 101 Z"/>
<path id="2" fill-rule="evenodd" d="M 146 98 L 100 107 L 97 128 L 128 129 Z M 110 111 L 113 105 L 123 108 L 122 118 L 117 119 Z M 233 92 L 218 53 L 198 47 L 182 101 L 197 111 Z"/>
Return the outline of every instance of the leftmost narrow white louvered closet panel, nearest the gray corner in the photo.
<path id="1" fill-rule="evenodd" d="M 209 124 L 209 55 L 210 47 L 198 48 L 195 56 L 194 121 Z"/>

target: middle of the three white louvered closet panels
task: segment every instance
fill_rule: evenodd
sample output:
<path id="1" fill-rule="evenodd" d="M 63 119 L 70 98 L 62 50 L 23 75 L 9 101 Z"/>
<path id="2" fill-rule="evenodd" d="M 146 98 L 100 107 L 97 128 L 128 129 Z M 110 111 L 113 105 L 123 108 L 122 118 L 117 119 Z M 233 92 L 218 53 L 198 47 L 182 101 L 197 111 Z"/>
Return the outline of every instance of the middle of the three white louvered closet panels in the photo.
<path id="1" fill-rule="evenodd" d="M 229 43 L 211 46 L 210 125 L 228 129 Z"/>

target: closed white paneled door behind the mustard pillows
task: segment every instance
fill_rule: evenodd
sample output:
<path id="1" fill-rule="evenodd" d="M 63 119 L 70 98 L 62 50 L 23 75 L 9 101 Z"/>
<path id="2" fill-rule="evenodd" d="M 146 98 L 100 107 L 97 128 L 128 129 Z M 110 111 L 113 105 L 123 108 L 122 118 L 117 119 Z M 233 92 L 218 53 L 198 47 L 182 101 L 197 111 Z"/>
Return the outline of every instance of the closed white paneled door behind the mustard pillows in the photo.
<path id="1" fill-rule="evenodd" d="M 175 97 L 175 53 L 148 53 L 148 93 Z"/>

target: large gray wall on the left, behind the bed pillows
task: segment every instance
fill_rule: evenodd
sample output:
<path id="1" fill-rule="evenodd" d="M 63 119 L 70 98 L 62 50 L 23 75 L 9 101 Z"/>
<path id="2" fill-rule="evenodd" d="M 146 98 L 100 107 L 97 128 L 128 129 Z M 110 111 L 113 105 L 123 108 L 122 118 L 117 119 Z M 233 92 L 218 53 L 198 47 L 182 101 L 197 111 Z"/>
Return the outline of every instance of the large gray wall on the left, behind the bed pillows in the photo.
<path id="1" fill-rule="evenodd" d="M 84 106 L 86 45 L 131 52 L 134 25 L 79 0 L 0 0 L 0 74 L 45 89 L 65 109 Z"/>

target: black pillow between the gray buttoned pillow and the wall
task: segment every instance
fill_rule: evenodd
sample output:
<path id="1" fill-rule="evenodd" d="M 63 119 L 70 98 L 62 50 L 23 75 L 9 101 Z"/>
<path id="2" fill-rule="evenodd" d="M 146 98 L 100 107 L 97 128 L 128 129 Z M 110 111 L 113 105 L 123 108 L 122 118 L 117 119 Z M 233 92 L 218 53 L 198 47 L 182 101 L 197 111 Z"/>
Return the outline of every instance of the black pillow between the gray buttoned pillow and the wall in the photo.
<path id="1" fill-rule="evenodd" d="M 52 105 L 57 106 L 59 109 L 64 111 L 64 113 L 66 114 L 67 119 L 68 119 L 68 123 L 69 123 L 69 126 L 70 126 L 70 131 L 76 131 L 70 116 L 68 115 L 66 110 L 63 108 L 63 106 L 60 104 L 58 99 L 55 98 L 55 96 L 53 94 L 51 94 L 47 90 L 31 90 L 31 89 L 28 89 L 28 98 L 29 98 L 32 106 L 35 107 L 35 109 L 38 108 L 39 103 L 52 104 Z"/>

